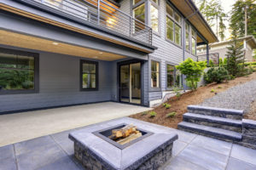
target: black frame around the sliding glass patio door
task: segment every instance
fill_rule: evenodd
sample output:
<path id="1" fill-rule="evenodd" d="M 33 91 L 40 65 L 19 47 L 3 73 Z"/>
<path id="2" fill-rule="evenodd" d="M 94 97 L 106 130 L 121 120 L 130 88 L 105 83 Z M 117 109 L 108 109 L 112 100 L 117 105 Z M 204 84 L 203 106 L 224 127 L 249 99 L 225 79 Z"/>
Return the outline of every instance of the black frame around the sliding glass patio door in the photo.
<path id="1" fill-rule="evenodd" d="M 122 65 L 128 65 L 129 66 L 129 71 L 130 71 L 130 68 L 131 68 L 131 65 L 132 64 L 137 64 L 139 63 L 140 64 L 140 68 L 141 68 L 141 71 L 140 71 L 140 86 L 141 86 L 141 102 L 140 104 L 137 104 L 137 103 L 131 103 L 130 101 L 130 88 L 131 86 L 129 86 L 129 102 L 125 102 L 125 101 L 122 101 L 121 100 L 121 74 L 120 74 L 120 71 L 121 71 L 121 66 Z M 126 60 L 126 61 L 122 61 L 122 62 L 119 62 L 117 63 L 117 74 L 118 74 L 118 101 L 119 103 L 125 103 L 125 104 L 130 104 L 130 105 L 143 105 L 143 69 L 142 69 L 142 66 L 143 66 L 143 61 L 142 60 L 138 60 L 138 59 L 131 59 L 131 60 Z M 131 73 L 129 74 L 129 80 L 131 80 Z M 131 82 L 129 82 L 129 84 L 131 84 Z"/>

